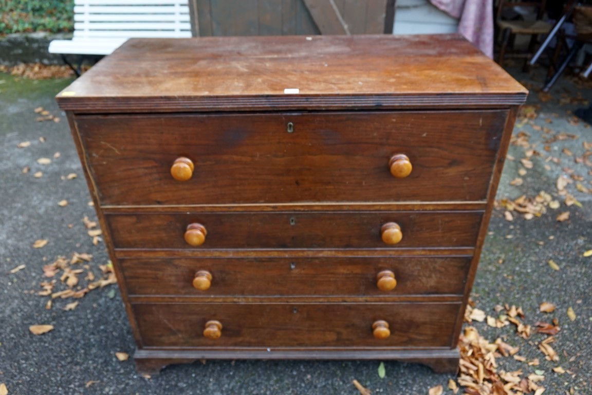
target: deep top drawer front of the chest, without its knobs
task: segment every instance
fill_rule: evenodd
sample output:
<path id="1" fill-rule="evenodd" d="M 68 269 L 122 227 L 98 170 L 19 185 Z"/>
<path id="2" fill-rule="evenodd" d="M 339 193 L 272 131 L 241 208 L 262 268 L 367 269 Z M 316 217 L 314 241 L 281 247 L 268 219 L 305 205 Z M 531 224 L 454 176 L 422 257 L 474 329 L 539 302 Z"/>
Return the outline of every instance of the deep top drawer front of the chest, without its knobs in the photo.
<path id="1" fill-rule="evenodd" d="M 481 201 L 507 111 L 79 115 L 103 205 Z M 411 174 L 395 178 L 403 154 Z M 191 159 L 187 181 L 171 176 Z"/>

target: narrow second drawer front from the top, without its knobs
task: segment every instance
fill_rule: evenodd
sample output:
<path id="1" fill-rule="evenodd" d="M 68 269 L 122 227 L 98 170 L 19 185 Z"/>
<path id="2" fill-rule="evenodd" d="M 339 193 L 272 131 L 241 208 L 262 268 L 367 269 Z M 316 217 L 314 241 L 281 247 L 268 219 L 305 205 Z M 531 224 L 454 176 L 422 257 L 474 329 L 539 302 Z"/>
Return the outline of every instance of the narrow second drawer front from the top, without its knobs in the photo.
<path id="1" fill-rule="evenodd" d="M 362 211 L 323 213 L 110 214 L 115 248 L 132 249 L 332 249 L 472 248 L 482 211 Z M 395 222 L 403 238 L 382 241 L 383 224 Z M 205 241 L 191 246 L 187 227 L 201 224 Z"/>

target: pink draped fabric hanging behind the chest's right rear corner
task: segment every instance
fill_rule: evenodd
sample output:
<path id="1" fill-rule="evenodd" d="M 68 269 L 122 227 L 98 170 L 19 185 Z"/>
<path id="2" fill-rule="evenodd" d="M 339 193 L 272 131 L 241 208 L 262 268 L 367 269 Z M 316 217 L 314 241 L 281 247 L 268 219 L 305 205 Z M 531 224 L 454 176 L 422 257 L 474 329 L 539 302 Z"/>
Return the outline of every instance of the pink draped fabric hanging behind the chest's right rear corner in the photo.
<path id="1" fill-rule="evenodd" d="M 493 0 L 430 0 L 437 8 L 458 18 L 458 33 L 493 58 Z"/>

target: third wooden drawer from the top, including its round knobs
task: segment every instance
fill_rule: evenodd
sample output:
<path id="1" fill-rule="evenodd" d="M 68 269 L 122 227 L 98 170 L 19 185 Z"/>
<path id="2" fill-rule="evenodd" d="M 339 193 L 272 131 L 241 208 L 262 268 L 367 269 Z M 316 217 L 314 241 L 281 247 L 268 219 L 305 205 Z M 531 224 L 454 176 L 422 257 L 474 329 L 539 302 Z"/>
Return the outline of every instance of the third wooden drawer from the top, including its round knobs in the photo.
<path id="1" fill-rule="evenodd" d="M 120 264 L 128 293 L 138 296 L 462 295 L 471 257 L 160 258 Z"/>

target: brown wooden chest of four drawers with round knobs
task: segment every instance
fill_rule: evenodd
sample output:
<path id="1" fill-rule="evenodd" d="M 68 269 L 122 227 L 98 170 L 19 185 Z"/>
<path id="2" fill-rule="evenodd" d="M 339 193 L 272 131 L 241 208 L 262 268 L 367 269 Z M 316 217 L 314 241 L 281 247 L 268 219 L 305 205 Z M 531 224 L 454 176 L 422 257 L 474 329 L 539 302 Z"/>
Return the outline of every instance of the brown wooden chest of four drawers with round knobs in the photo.
<path id="1" fill-rule="evenodd" d="M 456 370 L 526 90 L 459 36 L 130 40 L 57 95 L 141 372 Z"/>

